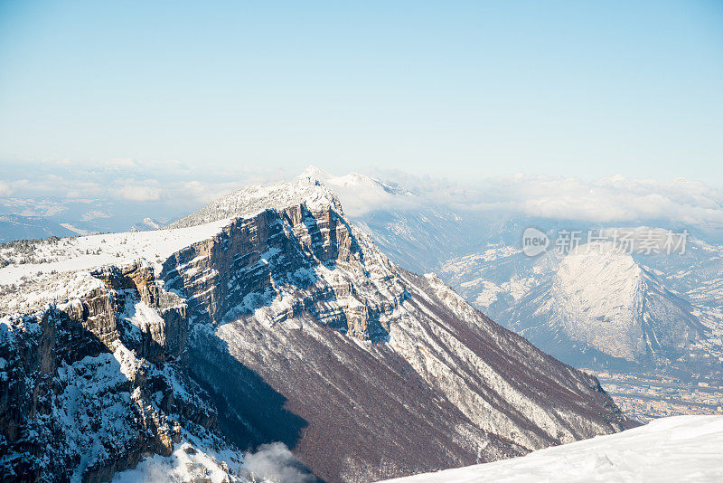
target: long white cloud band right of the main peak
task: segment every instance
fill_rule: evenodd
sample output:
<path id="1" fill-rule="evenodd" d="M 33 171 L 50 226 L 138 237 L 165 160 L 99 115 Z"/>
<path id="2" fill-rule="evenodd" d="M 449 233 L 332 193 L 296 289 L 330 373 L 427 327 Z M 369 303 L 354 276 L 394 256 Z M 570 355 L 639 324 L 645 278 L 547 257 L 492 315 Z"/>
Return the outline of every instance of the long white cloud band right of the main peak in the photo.
<path id="1" fill-rule="evenodd" d="M 621 175 L 592 182 L 546 175 L 509 175 L 477 185 L 396 176 L 418 206 L 596 223 L 669 221 L 723 226 L 723 192 L 682 179 L 662 182 Z M 392 177 L 392 179 L 394 179 Z M 408 203 L 408 200 L 404 200 Z"/>

